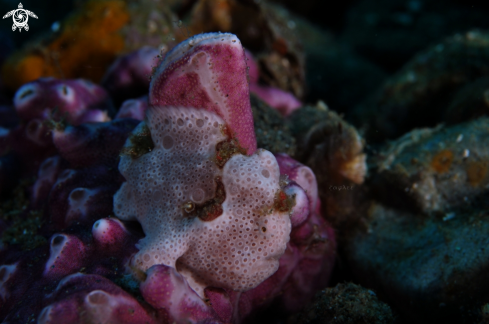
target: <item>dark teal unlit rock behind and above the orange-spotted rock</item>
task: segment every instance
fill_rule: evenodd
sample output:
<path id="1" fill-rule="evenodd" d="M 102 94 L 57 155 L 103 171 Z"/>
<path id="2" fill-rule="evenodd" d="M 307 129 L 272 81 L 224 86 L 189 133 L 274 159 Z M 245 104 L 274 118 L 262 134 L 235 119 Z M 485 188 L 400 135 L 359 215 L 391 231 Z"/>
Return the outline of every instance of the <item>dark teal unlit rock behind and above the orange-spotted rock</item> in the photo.
<path id="1" fill-rule="evenodd" d="M 450 107 L 453 96 L 447 94 L 489 75 L 488 40 L 487 32 L 474 30 L 418 53 L 356 108 L 356 124 L 365 125 L 367 139 L 375 142 L 397 138 L 416 127 L 436 126 Z M 474 108 L 464 109 L 469 114 Z"/>

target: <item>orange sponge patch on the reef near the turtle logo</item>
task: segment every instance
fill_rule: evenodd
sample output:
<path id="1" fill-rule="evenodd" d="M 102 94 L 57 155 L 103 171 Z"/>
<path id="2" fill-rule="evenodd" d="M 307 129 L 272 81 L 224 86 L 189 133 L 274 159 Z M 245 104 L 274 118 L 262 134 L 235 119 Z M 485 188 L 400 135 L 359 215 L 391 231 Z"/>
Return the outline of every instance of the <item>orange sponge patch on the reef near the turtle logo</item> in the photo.
<path id="1" fill-rule="evenodd" d="M 59 34 L 10 56 L 2 79 L 11 90 L 48 76 L 99 82 L 124 48 L 119 30 L 128 21 L 123 1 L 88 1 L 62 23 Z"/>

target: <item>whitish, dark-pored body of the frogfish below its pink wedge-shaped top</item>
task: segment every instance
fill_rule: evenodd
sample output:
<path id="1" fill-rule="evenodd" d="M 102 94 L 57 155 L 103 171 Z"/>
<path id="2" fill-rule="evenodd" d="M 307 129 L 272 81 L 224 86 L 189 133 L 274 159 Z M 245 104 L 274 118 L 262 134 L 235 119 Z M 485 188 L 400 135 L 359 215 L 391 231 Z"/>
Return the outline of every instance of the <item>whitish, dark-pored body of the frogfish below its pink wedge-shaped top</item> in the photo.
<path id="1" fill-rule="evenodd" d="M 155 147 L 137 159 L 121 157 L 127 181 L 114 196 L 116 216 L 137 219 L 146 234 L 133 265 L 143 271 L 173 267 L 201 297 L 207 286 L 245 291 L 272 275 L 291 227 L 288 213 L 273 211 L 280 171 L 270 152 L 236 154 L 222 170 L 213 162 L 216 144 L 225 139 L 223 124 L 205 110 L 151 108 Z M 169 149 L 167 136 L 173 139 Z M 213 198 L 218 176 L 226 191 L 223 214 L 207 222 L 190 217 L 182 206 L 197 202 L 194 196 L 199 202 Z"/>

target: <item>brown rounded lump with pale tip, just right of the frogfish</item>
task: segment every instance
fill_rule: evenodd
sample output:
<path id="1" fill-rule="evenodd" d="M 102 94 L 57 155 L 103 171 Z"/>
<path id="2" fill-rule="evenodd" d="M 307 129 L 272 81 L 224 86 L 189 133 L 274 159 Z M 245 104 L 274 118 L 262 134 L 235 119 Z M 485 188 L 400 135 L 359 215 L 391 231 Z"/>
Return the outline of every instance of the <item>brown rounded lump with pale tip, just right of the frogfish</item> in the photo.
<path id="1" fill-rule="evenodd" d="M 363 195 L 366 173 L 364 141 L 358 131 L 324 103 L 305 106 L 290 117 L 290 128 L 299 137 L 298 156 L 311 167 L 319 183 L 326 219 L 334 225 L 356 221 L 353 203 Z"/>

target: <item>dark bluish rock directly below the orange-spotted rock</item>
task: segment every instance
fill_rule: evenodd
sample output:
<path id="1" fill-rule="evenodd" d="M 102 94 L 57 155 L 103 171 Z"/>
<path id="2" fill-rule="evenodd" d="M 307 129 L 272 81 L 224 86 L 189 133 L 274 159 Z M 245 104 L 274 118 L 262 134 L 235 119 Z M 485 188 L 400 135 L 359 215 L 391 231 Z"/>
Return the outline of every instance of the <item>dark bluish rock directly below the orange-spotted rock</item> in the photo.
<path id="1" fill-rule="evenodd" d="M 374 202 L 364 226 L 348 235 L 346 260 L 406 319 L 474 323 L 488 300 L 488 210 L 486 203 L 427 218 Z"/>

